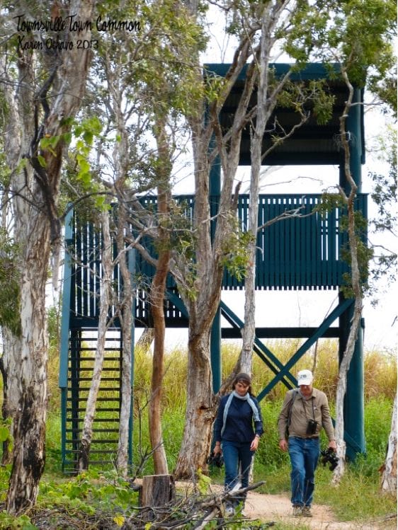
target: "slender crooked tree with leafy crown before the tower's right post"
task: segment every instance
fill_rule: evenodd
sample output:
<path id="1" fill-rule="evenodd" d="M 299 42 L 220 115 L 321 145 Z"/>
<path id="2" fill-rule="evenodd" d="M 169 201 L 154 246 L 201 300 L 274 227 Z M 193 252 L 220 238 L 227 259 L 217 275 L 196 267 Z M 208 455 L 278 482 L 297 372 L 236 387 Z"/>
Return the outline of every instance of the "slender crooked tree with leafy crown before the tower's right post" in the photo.
<path id="1" fill-rule="evenodd" d="M 347 98 L 340 116 L 339 140 L 343 151 L 343 173 L 346 189 L 338 188 L 338 194 L 346 208 L 348 234 L 348 259 L 350 277 L 345 293 L 354 300 L 353 317 L 346 347 L 340 359 L 339 380 L 336 388 L 336 442 L 339 465 L 334 471 L 334 482 L 339 482 L 344 471 L 346 444 L 343 439 L 343 400 L 346 393 L 347 372 L 353 357 L 363 309 L 363 296 L 367 288 L 367 267 L 371 251 L 366 248 L 361 233 L 362 221 L 355 212 L 354 202 L 358 183 L 351 169 L 351 143 L 355 141 L 347 130 L 347 118 L 360 104 L 354 99 L 354 86 L 368 85 L 381 90 L 385 77 L 394 69 L 393 38 L 396 33 L 397 6 L 392 1 L 349 0 L 347 2 L 318 2 L 319 16 L 333 13 L 331 24 L 311 35 L 297 35 L 297 42 L 311 49 L 314 58 L 322 59 L 336 69 L 347 88 Z"/>

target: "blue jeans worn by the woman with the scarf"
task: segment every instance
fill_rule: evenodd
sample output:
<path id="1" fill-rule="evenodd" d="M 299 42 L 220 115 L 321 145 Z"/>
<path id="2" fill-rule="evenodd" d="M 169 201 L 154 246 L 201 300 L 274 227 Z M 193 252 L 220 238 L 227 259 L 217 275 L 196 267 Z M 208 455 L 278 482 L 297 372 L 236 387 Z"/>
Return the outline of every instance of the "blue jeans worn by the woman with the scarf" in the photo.
<path id="1" fill-rule="evenodd" d="M 253 458 L 253 451 L 250 450 L 251 442 L 222 442 L 222 456 L 224 456 L 225 466 L 225 491 L 232 490 L 234 485 L 241 482 L 242 488 L 247 488 L 249 485 L 249 472 L 251 466 L 251 459 Z M 239 464 L 241 473 L 239 474 Z M 237 502 L 244 501 L 246 494 L 241 497 L 235 497 Z"/>

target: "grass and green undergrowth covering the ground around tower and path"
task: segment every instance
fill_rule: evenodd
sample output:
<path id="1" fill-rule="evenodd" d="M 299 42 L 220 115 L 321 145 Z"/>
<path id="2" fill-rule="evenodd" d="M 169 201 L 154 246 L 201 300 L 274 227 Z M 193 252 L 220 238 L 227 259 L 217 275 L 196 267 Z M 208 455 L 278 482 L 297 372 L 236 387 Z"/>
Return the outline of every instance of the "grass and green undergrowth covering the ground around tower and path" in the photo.
<path id="1" fill-rule="evenodd" d="M 275 341 L 268 345 L 285 364 L 292 352 L 297 349 L 289 341 Z M 232 369 L 239 350 L 226 343 L 222 348 L 223 376 Z M 334 393 L 337 381 L 336 342 L 319 341 L 317 363 L 314 369 L 315 386 L 329 396 L 331 410 L 334 410 Z M 313 368 L 314 352 L 307 354 L 295 367 L 295 371 Z M 149 449 L 147 403 L 150 388 L 152 357 L 150 354 L 136 352 L 134 386 L 134 437 L 133 459 L 137 466 L 141 454 Z M 55 374 L 57 359 L 50 359 L 50 374 Z M 166 375 L 164 378 L 162 426 L 164 444 L 169 469 L 176 465 L 178 451 L 185 422 L 185 386 L 186 352 L 174 350 L 166 356 Z M 258 393 L 271 380 L 269 370 L 260 359 L 254 359 L 254 392 Z M 178 384 L 176 384 L 178 382 Z M 57 382 L 50 380 L 52 394 L 50 412 L 47 415 L 47 444 L 45 476 L 40 483 L 38 504 L 23 517 L 12 518 L 0 507 L 0 528 L 33 530 L 45 528 L 35 526 L 32 521 L 40 521 L 47 514 L 47 522 L 54 529 L 118 529 L 122 528 L 127 517 L 134 512 L 138 504 L 137 492 L 130 483 L 118 477 L 113 469 L 92 468 L 79 477 L 66 477 L 61 472 L 61 419 L 59 414 L 59 396 Z M 380 474 L 378 469 L 385 459 L 388 434 L 390 432 L 392 400 L 397 387 L 397 361 L 393 356 L 371 352 L 365 355 L 365 438 L 367 454 L 358 456 L 355 463 L 348 464 L 346 474 L 338 487 L 331 486 L 331 471 L 318 466 L 314 502 L 329 505 L 336 518 L 341 521 L 371 521 L 386 514 L 396 513 L 396 499 L 380 492 Z M 288 455 L 278 449 L 276 420 L 286 389 L 278 384 L 261 402 L 265 434 L 254 461 L 254 480 L 265 480 L 259 492 L 290 496 L 290 463 Z M 326 439 L 322 438 L 326 446 Z M 9 468 L 0 468 L 0 502 L 5 501 L 8 488 Z M 152 474 L 152 460 L 145 464 L 142 474 Z M 210 478 L 213 483 L 223 483 L 224 470 L 212 468 Z M 1 512 L 1 509 L 3 510 Z M 59 517 L 59 519 L 57 519 Z M 48 519 L 50 518 L 50 519 Z M 98 521 L 101 519 L 101 525 Z M 80 526 L 73 526 L 73 521 Z M 257 525 L 257 526 L 256 526 Z M 261 529 L 260 523 L 236 528 Z M 278 523 L 275 529 L 290 530 L 290 524 Z M 296 530 L 306 530 L 300 522 Z M 210 529 L 210 526 L 209 526 Z M 231 526 L 232 529 L 232 526 Z"/>

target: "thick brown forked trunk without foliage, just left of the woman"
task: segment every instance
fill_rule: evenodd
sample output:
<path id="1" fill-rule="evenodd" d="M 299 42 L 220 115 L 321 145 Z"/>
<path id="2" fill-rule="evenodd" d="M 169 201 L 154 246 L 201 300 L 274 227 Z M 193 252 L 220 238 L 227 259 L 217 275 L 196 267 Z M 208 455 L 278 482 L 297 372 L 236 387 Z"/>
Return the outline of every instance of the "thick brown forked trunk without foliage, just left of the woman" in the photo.
<path id="1" fill-rule="evenodd" d="M 234 64 L 232 77 L 229 78 L 229 89 L 246 63 L 249 50 L 249 42 L 245 42 L 238 54 L 237 63 Z M 189 314 L 188 381 L 183 442 L 174 471 L 177 478 L 192 478 L 193 473 L 198 468 L 205 468 L 206 458 L 210 450 L 212 422 L 215 418 L 217 405 L 217 399 L 212 392 L 210 330 L 221 299 L 224 270 L 222 257 L 225 251 L 225 242 L 229 240 L 232 234 L 234 224 L 231 219 L 236 216 L 236 205 L 232 204 L 231 197 L 234 176 L 239 165 L 241 132 L 253 84 L 253 76 L 248 75 L 244 96 L 242 96 L 239 109 L 234 116 L 234 126 L 232 127 L 234 134 L 229 139 L 228 151 L 217 122 L 217 107 L 212 108 L 210 112 L 212 125 L 205 129 L 201 115 L 191 117 L 195 168 L 195 207 L 193 212 L 193 229 L 196 240 L 195 281 L 191 296 L 187 296 L 181 291 Z M 224 97 L 226 97 L 225 94 Z M 213 241 L 210 236 L 210 159 L 208 153 L 212 127 L 215 129 L 224 175 Z M 180 273 L 183 276 L 183 271 Z"/>

